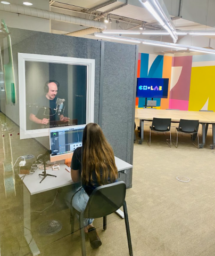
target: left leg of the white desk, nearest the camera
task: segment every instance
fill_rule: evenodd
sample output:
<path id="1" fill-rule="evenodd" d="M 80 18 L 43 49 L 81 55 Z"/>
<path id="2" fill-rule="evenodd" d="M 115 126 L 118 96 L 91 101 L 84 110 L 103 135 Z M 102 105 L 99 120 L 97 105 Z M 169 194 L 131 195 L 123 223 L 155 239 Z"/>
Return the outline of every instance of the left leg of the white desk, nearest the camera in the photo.
<path id="1" fill-rule="evenodd" d="M 40 251 L 34 238 L 31 235 L 31 205 L 30 205 L 30 193 L 26 186 L 23 184 L 23 205 L 24 205 L 24 237 L 28 243 L 30 250 L 34 256 L 39 255 Z"/>

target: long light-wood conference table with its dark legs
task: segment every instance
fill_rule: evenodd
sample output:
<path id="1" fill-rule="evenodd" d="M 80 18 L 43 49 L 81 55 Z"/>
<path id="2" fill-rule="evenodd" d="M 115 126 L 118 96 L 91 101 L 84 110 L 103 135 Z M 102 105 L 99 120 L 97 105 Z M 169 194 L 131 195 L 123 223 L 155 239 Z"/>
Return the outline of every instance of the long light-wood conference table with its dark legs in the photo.
<path id="1" fill-rule="evenodd" d="M 202 125 L 202 143 L 200 148 L 205 145 L 206 134 L 208 131 L 208 125 L 212 124 L 212 137 L 213 143 L 211 149 L 215 146 L 215 113 L 207 111 L 185 111 L 185 110 L 163 110 L 163 109 L 135 109 L 135 119 L 139 119 L 140 135 L 141 139 L 139 144 L 144 140 L 144 121 L 152 121 L 153 118 L 171 118 L 171 122 L 179 123 L 180 119 L 187 120 L 199 120 Z"/>

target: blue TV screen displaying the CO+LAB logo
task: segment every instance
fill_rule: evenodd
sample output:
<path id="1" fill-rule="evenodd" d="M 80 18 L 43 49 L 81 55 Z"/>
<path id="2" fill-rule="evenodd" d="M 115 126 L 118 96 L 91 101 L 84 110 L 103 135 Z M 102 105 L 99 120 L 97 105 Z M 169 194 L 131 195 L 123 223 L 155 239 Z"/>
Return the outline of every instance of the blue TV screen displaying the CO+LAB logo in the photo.
<path id="1" fill-rule="evenodd" d="M 137 78 L 137 98 L 167 98 L 169 78 Z"/>

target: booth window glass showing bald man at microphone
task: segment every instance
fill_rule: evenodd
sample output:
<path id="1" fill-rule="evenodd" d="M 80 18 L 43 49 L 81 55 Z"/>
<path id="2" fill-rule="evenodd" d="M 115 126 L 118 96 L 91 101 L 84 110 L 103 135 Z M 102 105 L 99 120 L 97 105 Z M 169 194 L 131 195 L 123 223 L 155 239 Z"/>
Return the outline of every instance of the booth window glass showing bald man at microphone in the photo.
<path id="1" fill-rule="evenodd" d="M 86 123 L 86 66 L 26 61 L 27 130 Z"/>

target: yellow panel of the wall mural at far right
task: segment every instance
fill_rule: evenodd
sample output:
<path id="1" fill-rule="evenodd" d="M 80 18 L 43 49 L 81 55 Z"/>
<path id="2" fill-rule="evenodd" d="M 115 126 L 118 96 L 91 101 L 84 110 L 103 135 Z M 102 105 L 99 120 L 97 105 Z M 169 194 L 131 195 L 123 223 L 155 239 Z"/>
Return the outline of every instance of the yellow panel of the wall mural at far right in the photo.
<path id="1" fill-rule="evenodd" d="M 206 110 L 215 111 L 215 66 L 193 67 L 188 110 L 199 111 L 208 99 Z"/>

